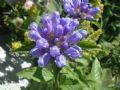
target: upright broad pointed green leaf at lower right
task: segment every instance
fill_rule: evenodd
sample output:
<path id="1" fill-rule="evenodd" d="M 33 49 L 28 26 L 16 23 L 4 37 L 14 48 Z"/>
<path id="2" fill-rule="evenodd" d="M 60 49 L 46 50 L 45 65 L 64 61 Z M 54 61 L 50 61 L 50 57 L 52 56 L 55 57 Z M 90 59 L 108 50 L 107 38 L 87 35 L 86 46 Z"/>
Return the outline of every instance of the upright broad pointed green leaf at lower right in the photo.
<path id="1" fill-rule="evenodd" d="M 94 90 L 113 90 L 109 87 L 112 80 L 111 72 L 108 70 L 102 70 L 100 62 L 97 58 L 92 64 L 92 69 L 88 75 L 88 80 L 94 81 L 94 84 L 89 83 L 90 87 Z"/>

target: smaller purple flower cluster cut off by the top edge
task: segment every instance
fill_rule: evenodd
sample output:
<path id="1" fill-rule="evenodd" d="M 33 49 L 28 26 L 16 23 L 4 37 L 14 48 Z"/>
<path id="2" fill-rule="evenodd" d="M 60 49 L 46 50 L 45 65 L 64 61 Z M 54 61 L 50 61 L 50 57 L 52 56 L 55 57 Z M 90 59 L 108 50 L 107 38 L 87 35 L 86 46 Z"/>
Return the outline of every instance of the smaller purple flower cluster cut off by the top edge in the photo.
<path id="1" fill-rule="evenodd" d="M 63 0 L 65 11 L 81 19 L 93 20 L 94 15 L 100 11 L 99 7 L 93 8 L 88 0 Z"/>

